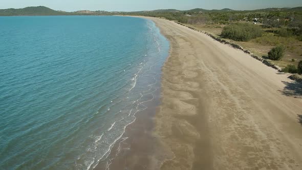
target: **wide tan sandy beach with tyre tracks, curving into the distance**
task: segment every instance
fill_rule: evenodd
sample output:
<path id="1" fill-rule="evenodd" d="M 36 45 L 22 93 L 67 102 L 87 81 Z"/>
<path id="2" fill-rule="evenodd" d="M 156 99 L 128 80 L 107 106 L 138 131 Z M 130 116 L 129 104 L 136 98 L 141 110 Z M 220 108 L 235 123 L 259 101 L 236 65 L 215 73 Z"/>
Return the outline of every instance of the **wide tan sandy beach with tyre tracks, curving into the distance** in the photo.
<path id="1" fill-rule="evenodd" d="M 154 134 L 161 169 L 301 169 L 302 89 L 288 75 L 174 22 Z"/>

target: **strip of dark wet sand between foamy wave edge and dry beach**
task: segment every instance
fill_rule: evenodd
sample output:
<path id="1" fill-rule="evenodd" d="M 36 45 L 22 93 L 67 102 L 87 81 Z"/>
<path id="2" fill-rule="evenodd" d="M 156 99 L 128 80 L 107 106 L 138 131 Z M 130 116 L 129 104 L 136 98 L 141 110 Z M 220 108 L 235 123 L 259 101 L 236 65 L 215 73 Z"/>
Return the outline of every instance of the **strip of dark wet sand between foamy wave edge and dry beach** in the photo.
<path id="1" fill-rule="evenodd" d="M 148 19 L 149 20 L 149 19 Z M 152 21 L 152 20 L 150 20 Z M 154 23 L 155 24 L 155 23 Z M 155 26 L 156 27 L 156 26 Z M 159 28 L 156 27 L 158 30 Z M 152 29 L 152 28 L 150 28 Z M 152 29 L 154 30 L 154 29 Z M 162 34 L 158 38 L 163 37 Z M 160 39 L 154 39 L 159 45 Z M 163 42 L 160 42 L 161 46 L 165 50 Z M 160 48 L 157 56 L 161 58 L 163 56 L 162 47 Z M 166 52 L 168 53 L 168 51 Z M 154 56 L 156 57 L 156 56 Z M 156 63 L 152 66 L 154 68 L 150 71 L 153 72 L 156 82 L 152 86 L 151 92 L 153 99 L 147 100 L 143 103 L 146 109 L 138 111 L 135 114 L 135 121 L 128 124 L 125 128 L 123 135 L 115 142 L 111 148 L 111 152 L 105 159 L 98 162 L 93 169 L 142 169 L 145 167 L 152 167 L 152 169 L 158 169 L 160 162 L 164 156 L 163 153 L 156 151 L 158 149 L 159 140 L 153 135 L 154 130 L 154 118 L 157 112 L 157 108 L 160 105 L 160 93 L 161 93 L 161 74 L 162 65 L 168 54 L 160 59 L 162 62 Z M 160 67 L 159 67 L 160 66 Z M 164 149 L 164 147 L 162 147 Z M 161 150 L 162 151 L 162 150 Z"/>

